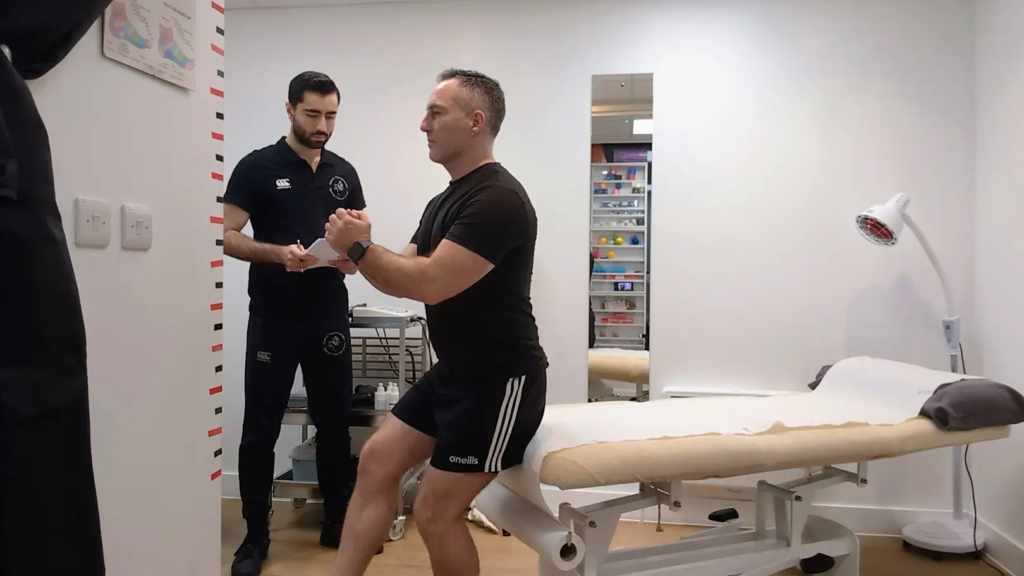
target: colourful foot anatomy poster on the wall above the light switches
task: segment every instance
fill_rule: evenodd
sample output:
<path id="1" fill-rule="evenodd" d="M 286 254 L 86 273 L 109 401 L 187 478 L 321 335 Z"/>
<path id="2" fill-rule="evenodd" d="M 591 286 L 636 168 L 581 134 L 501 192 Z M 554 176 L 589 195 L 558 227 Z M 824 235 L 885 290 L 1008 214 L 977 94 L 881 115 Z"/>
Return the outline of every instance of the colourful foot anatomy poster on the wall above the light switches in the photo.
<path id="1" fill-rule="evenodd" d="M 113 0 L 103 16 L 103 55 L 196 89 L 196 0 Z"/>

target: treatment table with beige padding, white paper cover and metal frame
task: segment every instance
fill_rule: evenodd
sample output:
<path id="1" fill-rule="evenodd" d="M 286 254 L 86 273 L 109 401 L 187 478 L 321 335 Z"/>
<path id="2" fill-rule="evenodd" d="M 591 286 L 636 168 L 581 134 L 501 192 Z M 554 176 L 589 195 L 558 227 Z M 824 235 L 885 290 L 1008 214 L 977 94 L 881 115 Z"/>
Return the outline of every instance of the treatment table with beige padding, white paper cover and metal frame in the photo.
<path id="1" fill-rule="evenodd" d="M 997 412 L 977 399 L 967 408 L 956 400 L 966 388 L 955 386 L 974 381 L 1002 386 L 860 357 L 834 365 L 809 393 L 550 406 L 523 464 L 501 472 L 476 506 L 540 553 L 541 576 L 768 576 L 793 567 L 858 576 L 857 536 L 810 513 L 815 493 L 866 485 L 871 460 L 1009 437 L 1009 425 L 955 430 L 963 422 L 950 413 Z M 943 388 L 945 400 L 929 400 Z M 1008 386 L 995 392 L 1017 395 Z M 958 395 L 953 401 L 951 393 Z M 1020 395 L 1013 398 L 1024 405 Z M 922 405 L 931 406 L 931 417 Z M 1022 416 L 1012 418 L 1008 423 Z M 756 487 L 699 482 L 801 468 L 802 478 Z M 623 484 L 636 484 L 637 493 L 580 507 L 562 503 L 557 517 L 542 493 L 542 486 Z M 715 528 L 669 544 L 609 551 L 622 515 L 662 505 L 679 510 L 691 499 L 753 502 L 754 528 L 741 529 L 739 513 L 726 508 L 709 517 Z"/>

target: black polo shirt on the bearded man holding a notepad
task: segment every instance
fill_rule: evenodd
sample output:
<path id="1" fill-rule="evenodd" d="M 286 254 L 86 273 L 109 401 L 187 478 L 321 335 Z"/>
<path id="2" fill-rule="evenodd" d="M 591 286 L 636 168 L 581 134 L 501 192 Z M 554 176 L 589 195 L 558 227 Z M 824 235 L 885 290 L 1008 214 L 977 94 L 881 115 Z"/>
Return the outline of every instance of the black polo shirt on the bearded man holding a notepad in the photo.
<path id="1" fill-rule="evenodd" d="M 249 212 L 253 239 L 309 247 L 324 237 L 324 224 L 339 208 L 367 207 L 355 168 L 324 150 L 312 167 L 295 154 L 285 138 L 249 153 L 227 181 L 224 202 Z M 315 310 L 312 301 L 347 307 L 345 275 L 333 266 L 293 273 L 280 263 L 249 264 L 249 311 L 272 314 Z"/>

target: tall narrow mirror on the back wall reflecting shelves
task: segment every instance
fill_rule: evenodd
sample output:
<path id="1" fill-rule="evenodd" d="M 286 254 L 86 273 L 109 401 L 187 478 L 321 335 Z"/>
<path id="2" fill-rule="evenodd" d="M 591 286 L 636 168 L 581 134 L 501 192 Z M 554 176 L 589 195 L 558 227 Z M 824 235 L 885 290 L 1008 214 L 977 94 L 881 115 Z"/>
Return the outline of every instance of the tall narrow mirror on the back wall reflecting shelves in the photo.
<path id="1" fill-rule="evenodd" d="M 590 217 L 590 398 L 647 389 L 653 74 L 593 77 Z"/>

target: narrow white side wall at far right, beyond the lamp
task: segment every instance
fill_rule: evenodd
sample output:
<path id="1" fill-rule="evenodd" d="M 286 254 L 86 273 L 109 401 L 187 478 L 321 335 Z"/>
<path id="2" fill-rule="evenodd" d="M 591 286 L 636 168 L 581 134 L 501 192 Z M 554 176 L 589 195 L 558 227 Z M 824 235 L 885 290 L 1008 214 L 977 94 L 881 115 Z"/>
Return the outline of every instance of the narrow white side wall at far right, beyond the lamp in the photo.
<path id="1" fill-rule="evenodd" d="M 978 180 L 975 225 L 981 371 L 1024 392 L 1024 2 L 983 0 L 978 34 Z M 968 362 L 971 361 L 968 352 Z M 978 366 L 978 360 L 974 361 Z M 968 365 L 970 368 L 970 364 Z M 1024 464 L 1008 458 L 1024 450 L 1021 430 L 999 444 L 972 448 L 979 517 L 1024 543 Z M 977 452 L 975 452 L 977 450 Z M 1004 547 L 1005 542 L 992 542 Z M 1008 548 L 1005 548 L 1008 549 Z M 1000 554 L 1000 560 L 1008 554 Z M 1006 567 L 1024 574 L 1024 553 Z"/>

